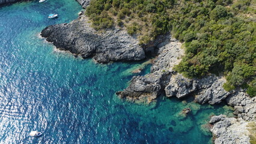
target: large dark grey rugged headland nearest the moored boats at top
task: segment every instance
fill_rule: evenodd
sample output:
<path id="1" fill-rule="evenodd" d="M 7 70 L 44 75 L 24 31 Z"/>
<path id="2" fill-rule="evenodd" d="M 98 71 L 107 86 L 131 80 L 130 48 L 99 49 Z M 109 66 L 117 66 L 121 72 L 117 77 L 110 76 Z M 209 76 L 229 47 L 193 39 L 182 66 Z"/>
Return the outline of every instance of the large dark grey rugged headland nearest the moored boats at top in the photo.
<path id="1" fill-rule="evenodd" d="M 144 49 L 123 29 L 109 29 L 104 33 L 91 28 L 86 16 L 71 23 L 47 26 L 42 37 L 61 50 L 93 57 L 97 62 L 138 61 L 145 58 Z"/>

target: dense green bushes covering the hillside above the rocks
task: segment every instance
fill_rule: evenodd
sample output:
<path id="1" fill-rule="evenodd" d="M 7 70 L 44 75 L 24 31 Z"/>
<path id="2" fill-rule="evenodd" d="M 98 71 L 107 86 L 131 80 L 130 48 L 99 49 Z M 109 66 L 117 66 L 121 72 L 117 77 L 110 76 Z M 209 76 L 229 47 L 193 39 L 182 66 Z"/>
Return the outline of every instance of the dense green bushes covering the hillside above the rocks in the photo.
<path id="1" fill-rule="evenodd" d="M 186 56 L 175 67 L 186 77 L 224 73 L 224 88 L 256 95 L 256 2 L 251 0 L 92 0 L 95 29 L 124 26 L 141 44 L 171 34 Z"/>

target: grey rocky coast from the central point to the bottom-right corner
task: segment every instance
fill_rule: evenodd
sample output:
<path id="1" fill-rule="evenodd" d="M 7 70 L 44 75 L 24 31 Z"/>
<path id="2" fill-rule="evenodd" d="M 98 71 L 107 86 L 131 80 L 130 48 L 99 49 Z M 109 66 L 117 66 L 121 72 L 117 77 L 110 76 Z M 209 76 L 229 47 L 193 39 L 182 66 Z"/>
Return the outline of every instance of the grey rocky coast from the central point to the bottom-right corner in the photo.
<path id="1" fill-rule="evenodd" d="M 203 79 L 187 79 L 175 73 L 172 68 L 179 62 L 183 50 L 181 44 L 174 39 L 161 47 L 160 54 L 151 67 L 151 73 L 135 76 L 130 85 L 117 92 L 120 98 L 140 103 L 150 103 L 159 95 L 166 97 L 194 97 L 200 104 L 218 104 L 222 101 L 234 107 L 236 118 L 225 115 L 213 116 L 210 120 L 214 142 L 249 143 L 249 132 L 246 125 L 256 121 L 256 98 L 249 97 L 243 89 L 227 92 L 222 88 L 224 77 L 210 74 Z"/>

